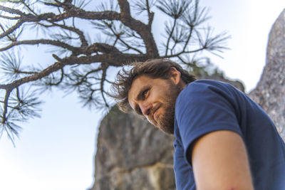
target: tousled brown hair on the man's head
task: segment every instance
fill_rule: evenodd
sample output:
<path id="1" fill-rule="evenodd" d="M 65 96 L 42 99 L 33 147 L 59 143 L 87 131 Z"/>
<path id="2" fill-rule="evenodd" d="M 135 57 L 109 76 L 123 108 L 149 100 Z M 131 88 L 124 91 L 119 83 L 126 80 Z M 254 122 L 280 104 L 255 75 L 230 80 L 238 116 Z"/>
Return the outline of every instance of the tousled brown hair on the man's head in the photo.
<path id="1" fill-rule="evenodd" d="M 181 73 L 181 79 L 184 83 L 191 83 L 196 80 L 195 75 L 191 75 L 184 70 L 180 65 L 167 59 L 152 59 L 145 62 L 136 62 L 131 64 L 133 68 L 126 70 L 123 68 L 117 74 L 117 78 L 112 85 L 112 93 L 110 96 L 114 97 L 120 110 L 128 112 L 131 110 L 128 102 L 128 93 L 135 78 L 140 75 L 146 75 L 150 78 L 169 78 L 169 71 L 171 67 L 176 68 Z"/>

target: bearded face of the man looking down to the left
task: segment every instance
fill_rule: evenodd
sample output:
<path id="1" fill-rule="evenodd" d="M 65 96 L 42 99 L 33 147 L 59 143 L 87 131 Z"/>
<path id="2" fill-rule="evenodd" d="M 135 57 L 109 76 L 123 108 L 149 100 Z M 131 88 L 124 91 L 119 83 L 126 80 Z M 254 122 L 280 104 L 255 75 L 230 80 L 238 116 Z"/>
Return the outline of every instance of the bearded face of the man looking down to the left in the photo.
<path id="1" fill-rule="evenodd" d="M 152 125 L 173 134 L 175 101 L 181 90 L 172 79 L 153 79 L 141 75 L 133 81 L 128 101 L 133 110 L 144 115 Z"/>

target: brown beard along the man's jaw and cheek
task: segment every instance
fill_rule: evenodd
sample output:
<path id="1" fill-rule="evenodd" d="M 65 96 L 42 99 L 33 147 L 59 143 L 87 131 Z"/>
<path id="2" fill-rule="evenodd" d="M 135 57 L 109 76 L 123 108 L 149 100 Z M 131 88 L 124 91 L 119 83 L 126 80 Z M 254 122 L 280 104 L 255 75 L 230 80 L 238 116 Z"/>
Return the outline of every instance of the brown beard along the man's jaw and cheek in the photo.
<path id="1" fill-rule="evenodd" d="M 165 112 L 157 119 L 155 126 L 166 134 L 174 134 L 175 102 L 181 91 L 182 88 L 170 83 L 168 91 L 170 93 L 165 95 L 165 104 L 163 105 Z"/>

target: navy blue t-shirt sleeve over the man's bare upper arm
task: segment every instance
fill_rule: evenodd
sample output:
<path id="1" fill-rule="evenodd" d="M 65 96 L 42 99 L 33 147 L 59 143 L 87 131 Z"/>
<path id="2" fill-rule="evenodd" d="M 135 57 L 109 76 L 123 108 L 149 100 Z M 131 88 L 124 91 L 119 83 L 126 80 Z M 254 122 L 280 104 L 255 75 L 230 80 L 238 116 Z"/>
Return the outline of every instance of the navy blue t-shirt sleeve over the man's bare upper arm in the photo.
<path id="1" fill-rule="evenodd" d="M 202 135 L 230 130 L 242 136 L 234 98 L 222 85 L 194 82 L 177 97 L 175 117 L 188 164 L 192 147 Z"/>

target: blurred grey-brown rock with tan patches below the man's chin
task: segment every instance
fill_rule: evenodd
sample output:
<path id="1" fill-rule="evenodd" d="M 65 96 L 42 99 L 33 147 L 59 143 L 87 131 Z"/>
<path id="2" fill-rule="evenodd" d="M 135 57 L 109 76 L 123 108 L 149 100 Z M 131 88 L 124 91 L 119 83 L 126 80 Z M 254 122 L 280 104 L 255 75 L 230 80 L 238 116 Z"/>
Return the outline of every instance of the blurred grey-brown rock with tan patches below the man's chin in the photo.
<path id="1" fill-rule="evenodd" d="M 93 190 L 175 189 L 174 137 L 115 106 L 98 134 Z"/>

